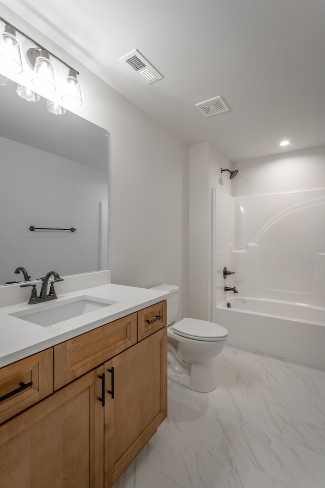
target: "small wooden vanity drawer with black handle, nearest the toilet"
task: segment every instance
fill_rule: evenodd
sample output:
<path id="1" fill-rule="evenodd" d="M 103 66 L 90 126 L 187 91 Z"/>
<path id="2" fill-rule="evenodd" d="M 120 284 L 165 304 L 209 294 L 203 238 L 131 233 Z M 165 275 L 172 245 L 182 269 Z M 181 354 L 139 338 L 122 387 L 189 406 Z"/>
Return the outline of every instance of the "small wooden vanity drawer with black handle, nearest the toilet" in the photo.
<path id="1" fill-rule="evenodd" d="M 167 325 L 167 301 L 160 301 L 138 312 L 138 341 Z"/>

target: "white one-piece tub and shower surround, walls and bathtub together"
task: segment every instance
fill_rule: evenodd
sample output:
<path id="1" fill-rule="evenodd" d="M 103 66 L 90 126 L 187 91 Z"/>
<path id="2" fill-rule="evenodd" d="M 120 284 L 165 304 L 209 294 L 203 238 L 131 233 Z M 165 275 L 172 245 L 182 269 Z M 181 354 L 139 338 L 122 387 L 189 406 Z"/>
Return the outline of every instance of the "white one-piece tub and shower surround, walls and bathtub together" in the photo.
<path id="1" fill-rule="evenodd" d="M 213 197 L 213 322 L 233 346 L 325 367 L 325 189 Z"/>

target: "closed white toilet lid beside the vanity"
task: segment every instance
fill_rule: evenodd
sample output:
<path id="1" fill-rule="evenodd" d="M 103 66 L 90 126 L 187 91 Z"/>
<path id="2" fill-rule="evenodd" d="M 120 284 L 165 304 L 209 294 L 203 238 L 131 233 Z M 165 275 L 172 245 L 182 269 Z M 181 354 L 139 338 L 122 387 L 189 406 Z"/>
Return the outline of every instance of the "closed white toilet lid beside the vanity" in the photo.
<path id="1" fill-rule="evenodd" d="M 187 317 L 173 325 L 172 329 L 175 334 L 197 341 L 221 341 L 228 335 L 228 330 L 222 325 Z"/>

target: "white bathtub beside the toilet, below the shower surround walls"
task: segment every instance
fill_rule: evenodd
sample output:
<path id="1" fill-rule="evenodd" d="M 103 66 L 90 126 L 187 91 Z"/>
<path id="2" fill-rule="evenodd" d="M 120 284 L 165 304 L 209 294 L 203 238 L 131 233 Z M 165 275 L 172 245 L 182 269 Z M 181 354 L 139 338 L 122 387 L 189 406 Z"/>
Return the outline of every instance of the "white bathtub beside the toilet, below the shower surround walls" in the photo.
<path id="1" fill-rule="evenodd" d="M 213 321 L 229 330 L 232 346 L 325 368 L 325 308 L 232 297 L 215 308 Z"/>

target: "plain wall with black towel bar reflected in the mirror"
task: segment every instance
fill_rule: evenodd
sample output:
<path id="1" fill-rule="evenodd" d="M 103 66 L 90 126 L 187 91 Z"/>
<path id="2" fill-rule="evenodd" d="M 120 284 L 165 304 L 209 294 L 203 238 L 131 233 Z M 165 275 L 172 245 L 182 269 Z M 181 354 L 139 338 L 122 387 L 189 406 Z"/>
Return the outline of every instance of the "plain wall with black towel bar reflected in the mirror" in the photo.
<path id="1" fill-rule="evenodd" d="M 99 269 L 99 206 L 107 172 L 0 137 L 0 284 Z M 75 227 L 77 232 L 29 227 Z"/>

